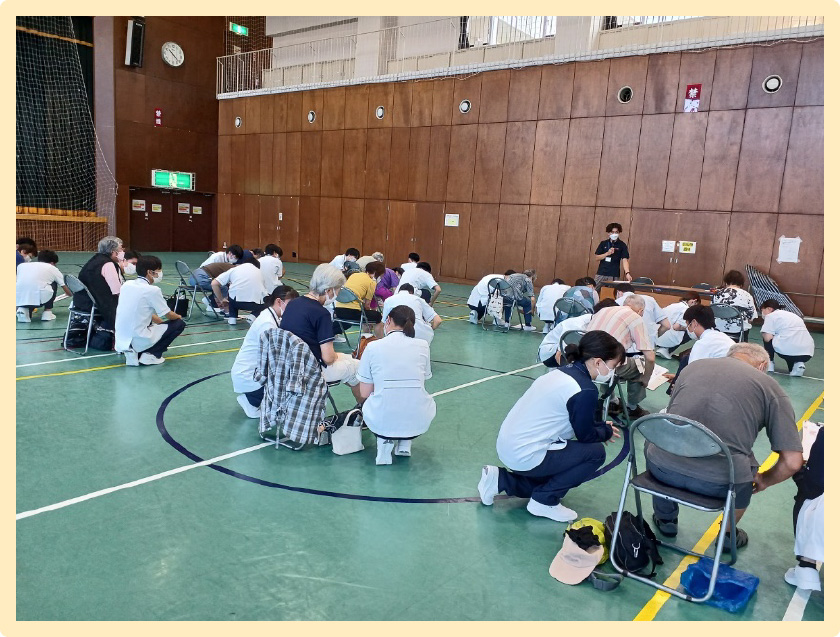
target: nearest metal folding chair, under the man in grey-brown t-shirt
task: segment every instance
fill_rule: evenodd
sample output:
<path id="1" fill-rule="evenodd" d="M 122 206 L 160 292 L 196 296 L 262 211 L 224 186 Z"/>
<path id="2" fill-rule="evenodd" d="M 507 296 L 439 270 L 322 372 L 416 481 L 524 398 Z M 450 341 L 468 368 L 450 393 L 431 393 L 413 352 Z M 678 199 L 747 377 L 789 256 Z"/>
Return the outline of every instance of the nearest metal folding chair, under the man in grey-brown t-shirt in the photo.
<path id="1" fill-rule="evenodd" d="M 726 459 L 729 466 L 729 488 L 725 498 L 713 498 L 705 495 L 698 495 L 685 489 L 678 489 L 670 485 L 664 484 L 654 478 L 649 471 L 639 473 L 636 467 L 636 434 L 641 435 L 645 440 L 656 445 L 663 451 L 667 451 L 675 456 L 682 458 L 706 458 L 710 456 L 722 456 Z M 630 452 L 627 456 L 627 471 L 624 476 L 624 484 L 621 488 L 621 499 L 618 503 L 618 515 L 616 516 L 615 530 L 613 531 L 612 544 L 610 546 L 610 560 L 615 569 L 625 577 L 644 582 L 649 586 L 658 588 L 661 591 L 676 595 L 680 599 L 689 602 L 705 602 L 712 593 L 714 593 L 715 582 L 717 581 L 718 567 L 721 564 L 721 553 L 723 551 L 723 544 L 726 541 L 726 527 L 729 526 L 729 533 L 731 538 L 731 557 L 728 564 L 734 564 L 737 558 L 737 548 L 735 546 L 735 466 L 732 463 L 732 454 L 729 448 L 723 441 L 699 422 L 676 416 L 673 414 L 651 414 L 643 418 L 639 418 L 630 427 L 628 434 L 630 442 Z M 717 546 L 715 548 L 715 557 L 712 563 L 712 573 L 709 581 L 709 590 L 703 597 L 691 597 L 675 588 L 659 584 L 651 579 L 641 577 L 635 573 L 630 573 L 618 566 L 615 560 L 615 547 L 618 538 L 618 531 L 621 526 L 621 514 L 624 511 L 624 504 L 627 499 L 627 491 L 629 488 L 633 489 L 636 497 L 636 513 L 639 518 L 642 518 L 642 503 L 639 493 L 649 493 L 652 496 L 665 498 L 677 504 L 697 509 L 698 511 L 706 511 L 709 513 L 721 512 L 720 531 L 717 537 Z M 693 555 L 695 557 L 704 557 L 701 553 L 673 544 L 670 542 L 663 542 L 657 539 L 657 544 L 667 546 L 670 549 L 683 553 L 684 555 Z M 727 563 L 727 562 L 724 562 Z"/>

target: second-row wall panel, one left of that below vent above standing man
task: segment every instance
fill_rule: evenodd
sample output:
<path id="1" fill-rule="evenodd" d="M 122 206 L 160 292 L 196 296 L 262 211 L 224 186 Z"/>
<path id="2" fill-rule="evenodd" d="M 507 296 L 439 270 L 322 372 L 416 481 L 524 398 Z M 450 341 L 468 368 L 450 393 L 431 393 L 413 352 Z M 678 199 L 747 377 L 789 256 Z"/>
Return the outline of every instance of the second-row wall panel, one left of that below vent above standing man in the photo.
<path id="1" fill-rule="evenodd" d="M 603 117 L 573 119 L 569 124 L 569 145 L 563 177 L 564 205 L 595 204 L 603 138 Z"/>

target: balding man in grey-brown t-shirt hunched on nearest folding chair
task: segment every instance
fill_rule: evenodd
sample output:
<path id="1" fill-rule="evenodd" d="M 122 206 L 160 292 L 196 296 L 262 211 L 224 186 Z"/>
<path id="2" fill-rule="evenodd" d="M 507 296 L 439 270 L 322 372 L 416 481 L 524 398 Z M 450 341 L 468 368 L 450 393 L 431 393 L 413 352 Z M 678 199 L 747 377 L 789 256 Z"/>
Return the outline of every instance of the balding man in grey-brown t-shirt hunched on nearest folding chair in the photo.
<path id="1" fill-rule="evenodd" d="M 686 311 L 687 313 L 688 311 Z M 690 364 L 674 383 L 667 413 L 704 425 L 729 447 L 735 467 L 735 521 L 744 515 L 752 494 L 783 482 L 802 466 L 802 443 L 790 398 L 765 372 L 770 364 L 760 345 L 736 343 L 725 358 Z M 767 471 L 758 472 L 752 452 L 764 429 L 770 447 L 779 454 Z M 723 454 L 703 458 L 674 456 L 651 443 L 645 445 L 647 469 L 660 482 L 715 498 L 726 496 L 729 465 Z M 653 498 L 653 523 L 666 537 L 677 534 L 679 505 Z M 747 545 L 748 536 L 736 529 L 735 546 Z M 726 533 L 724 550 L 730 550 Z"/>

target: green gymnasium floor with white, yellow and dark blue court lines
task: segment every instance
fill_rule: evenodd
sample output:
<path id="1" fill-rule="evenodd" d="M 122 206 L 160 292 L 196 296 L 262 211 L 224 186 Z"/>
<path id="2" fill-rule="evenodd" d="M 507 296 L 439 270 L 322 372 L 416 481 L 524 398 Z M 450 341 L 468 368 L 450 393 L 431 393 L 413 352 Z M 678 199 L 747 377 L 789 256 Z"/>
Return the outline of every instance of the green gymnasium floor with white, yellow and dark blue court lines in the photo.
<path id="1" fill-rule="evenodd" d="M 176 259 L 203 259 L 160 256 L 164 293 L 177 282 Z M 77 273 L 88 255 L 60 258 L 63 272 Z M 286 265 L 287 282 L 302 289 L 313 266 Z M 756 496 L 742 522 L 750 543 L 737 566 L 761 584 L 738 615 L 651 601 L 655 590 L 633 581 L 608 593 L 555 581 L 548 567 L 564 525 L 531 516 L 524 500 L 476 501 L 482 465 L 498 462 L 499 425 L 543 373 L 534 366 L 541 336 L 470 325 L 468 293 L 443 285 L 436 309 L 448 320 L 432 344 L 427 388 L 450 391 L 436 398 L 437 418 L 413 456 L 389 467 L 374 465 L 368 433 L 366 449 L 344 457 L 259 446 L 257 422 L 244 417 L 226 374 L 244 321 L 194 313 L 167 362 L 139 368 L 114 354 L 63 351 L 68 301 L 55 322 L 16 324 L 17 619 L 739 621 L 801 608 L 782 579 L 794 563 L 790 481 Z M 797 417 L 822 420 L 823 337 L 815 338 L 808 378 L 774 378 Z M 346 387 L 335 396 L 352 405 Z M 660 388 L 644 405 L 660 409 L 666 399 Z M 608 463 L 620 450 L 608 447 Z M 756 457 L 768 454 L 761 437 Z M 603 520 L 618 504 L 623 467 L 564 502 Z M 693 545 L 712 519 L 683 511 L 678 540 Z M 658 581 L 680 561 L 663 558 Z M 813 593 L 798 616 L 823 613 L 823 594 Z"/>

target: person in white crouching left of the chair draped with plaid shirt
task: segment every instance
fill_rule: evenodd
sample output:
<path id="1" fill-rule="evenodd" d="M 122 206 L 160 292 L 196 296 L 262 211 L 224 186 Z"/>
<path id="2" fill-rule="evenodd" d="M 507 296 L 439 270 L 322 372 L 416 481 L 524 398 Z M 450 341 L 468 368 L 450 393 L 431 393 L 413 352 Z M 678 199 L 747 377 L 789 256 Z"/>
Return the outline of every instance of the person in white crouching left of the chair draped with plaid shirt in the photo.
<path id="1" fill-rule="evenodd" d="M 254 372 L 260 362 L 260 336 L 266 330 L 280 327 L 280 318 L 286 304 L 300 296 L 297 290 L 288 285 L 278 285 L 271 294 L 265 297 L 265 311 L 248 328 L 242 347 L 236 354 L 230 378 L 233 381 L 233 391 L 236 392 L 236 402 L 242 407 L 248 418 L 260 417 L 260 402 L 262 402 L 265 386 L 254 380 Z"/>

